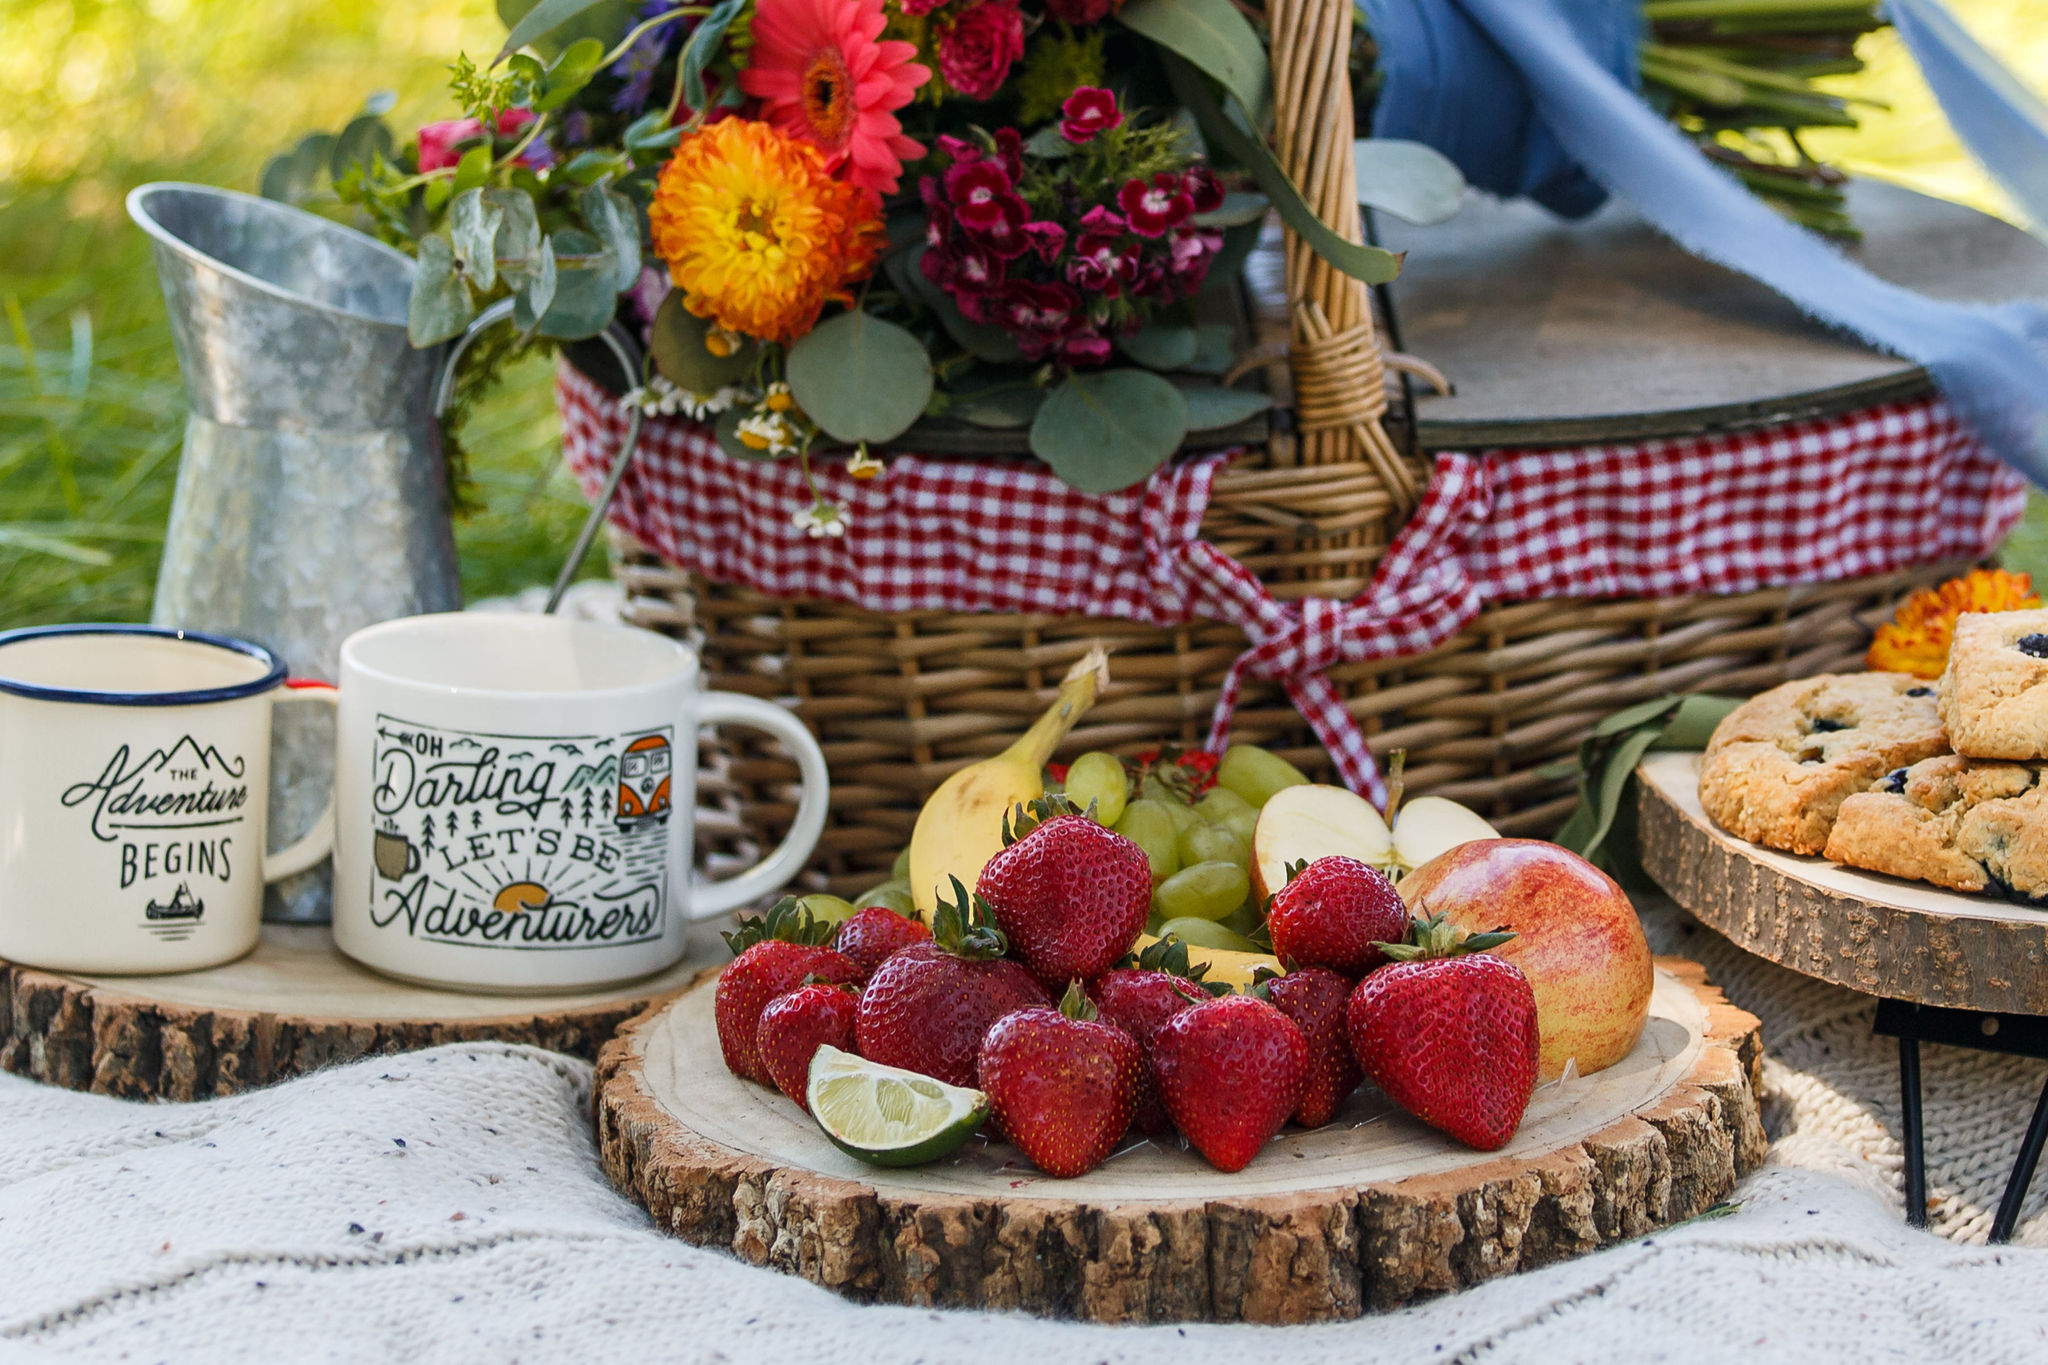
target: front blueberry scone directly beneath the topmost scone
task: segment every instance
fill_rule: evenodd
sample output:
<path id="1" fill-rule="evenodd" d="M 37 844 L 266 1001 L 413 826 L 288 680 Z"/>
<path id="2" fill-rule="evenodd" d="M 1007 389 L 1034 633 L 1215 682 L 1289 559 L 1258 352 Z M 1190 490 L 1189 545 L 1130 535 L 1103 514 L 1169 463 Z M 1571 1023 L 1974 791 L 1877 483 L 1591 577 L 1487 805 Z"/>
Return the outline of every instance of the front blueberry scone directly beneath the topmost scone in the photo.
<path id="1" fill-rule="evenodd" d="M 1950 890 L 2048 896 L 2042 767 L 1954 753 L 1901 767 L 1841 802 L 1827 855 Z"/>

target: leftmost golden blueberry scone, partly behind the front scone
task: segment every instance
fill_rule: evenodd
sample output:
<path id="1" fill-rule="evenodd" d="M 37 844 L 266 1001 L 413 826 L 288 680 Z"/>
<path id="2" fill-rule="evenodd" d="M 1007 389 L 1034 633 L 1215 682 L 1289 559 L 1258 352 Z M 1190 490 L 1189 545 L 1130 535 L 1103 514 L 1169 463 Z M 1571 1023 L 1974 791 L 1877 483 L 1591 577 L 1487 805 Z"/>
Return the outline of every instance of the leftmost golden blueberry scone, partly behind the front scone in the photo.
<path id="1" fill-rule="evenodd" d="M 1700 804 L 1731 835 L 1819 853 L 1835 812 L 1884 774 L 1948 753 L 1933 688 L 1907 673 L 1823 673 L 1772 688 L 1714 729 Z"/>

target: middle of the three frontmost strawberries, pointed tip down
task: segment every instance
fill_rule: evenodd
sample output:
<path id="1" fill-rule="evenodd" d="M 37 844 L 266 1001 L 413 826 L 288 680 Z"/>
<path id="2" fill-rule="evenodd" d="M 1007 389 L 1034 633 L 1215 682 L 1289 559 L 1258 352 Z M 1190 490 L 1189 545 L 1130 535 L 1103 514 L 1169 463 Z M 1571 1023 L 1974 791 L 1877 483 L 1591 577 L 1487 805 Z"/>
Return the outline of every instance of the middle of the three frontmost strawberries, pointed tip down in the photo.
<path id="1" fill-rule="evenodd" d="M 1194 1150 L 1243 1171 L 1300 1105 L 1309 1040 L 1253 995 L 1192 1005 L 1153 1033 L 1153 1083 Z"/>

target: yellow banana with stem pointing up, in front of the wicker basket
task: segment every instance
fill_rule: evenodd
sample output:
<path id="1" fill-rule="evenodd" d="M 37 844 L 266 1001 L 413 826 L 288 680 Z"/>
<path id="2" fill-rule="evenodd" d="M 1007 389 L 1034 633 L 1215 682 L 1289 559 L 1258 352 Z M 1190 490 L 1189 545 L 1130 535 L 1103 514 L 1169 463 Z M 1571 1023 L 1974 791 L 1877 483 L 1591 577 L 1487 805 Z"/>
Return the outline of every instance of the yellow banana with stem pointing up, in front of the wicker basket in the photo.
<path id="1" fill-rule="evenodd" d="M 1098 645 L 1067 669 L 1059 696 L 1014 745 L 952 774 L 924 802 L 909 835 L 909 886 L 922 919 L 932 919 L 952 878 L 975 888 L 1004 847 L 1004 817 L 1044 792 L 1047 759 L 1108 681 L 1110 661 Z"/>

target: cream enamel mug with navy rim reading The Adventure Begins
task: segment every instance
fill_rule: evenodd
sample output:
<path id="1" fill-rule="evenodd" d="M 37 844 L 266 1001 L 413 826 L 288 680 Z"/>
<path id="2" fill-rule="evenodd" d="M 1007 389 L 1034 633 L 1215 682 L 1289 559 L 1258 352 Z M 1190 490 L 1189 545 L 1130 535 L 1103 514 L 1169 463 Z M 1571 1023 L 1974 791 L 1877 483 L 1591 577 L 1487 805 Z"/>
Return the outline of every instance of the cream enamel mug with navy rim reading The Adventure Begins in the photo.
<path id="1" fill-rule="evenodd" d="M 268 649 L 162 626 L 0 632 L 0 958 L 66 972 L 186 972 L 256 945 L 262 888 L 334 839 L 264 851 Z"/>

